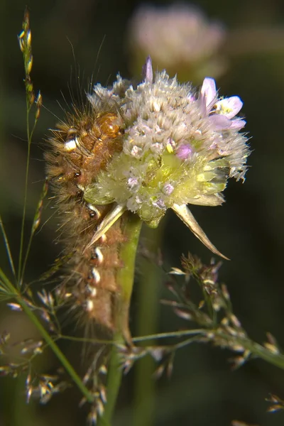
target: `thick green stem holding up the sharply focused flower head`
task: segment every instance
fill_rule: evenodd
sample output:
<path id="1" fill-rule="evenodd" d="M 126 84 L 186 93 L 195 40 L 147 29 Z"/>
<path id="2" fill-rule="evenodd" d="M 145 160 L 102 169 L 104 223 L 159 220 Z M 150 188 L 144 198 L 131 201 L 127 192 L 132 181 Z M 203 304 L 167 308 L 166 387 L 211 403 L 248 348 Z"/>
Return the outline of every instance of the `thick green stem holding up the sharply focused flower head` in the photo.
<path id="1" fill-rule="evenodd" d="M 138 239 L 141 231 L 141 220 L 129 212 L 124 214 L 121 229 L 126 236 L 126 243 L 121 245 L 119 256 L 124 262 L 117 274 L 117 283 L 121 289 L 119 300 L 116 305 L 116 333 L 114 334 L 114 345 L 111 349 L 111 359 L 107 373 L 107 404 L 104 414 L 99 418 L 98 426 L 111 424 L 111 417 L 114 413 L 116 399 L 119 394 L 121 384 L 121 362 L 118 344 L 128 342 L 131 344 L 131 334 L 129 332 L 129 305 L 131 300 L 135 259 L 138 246 Z"/>

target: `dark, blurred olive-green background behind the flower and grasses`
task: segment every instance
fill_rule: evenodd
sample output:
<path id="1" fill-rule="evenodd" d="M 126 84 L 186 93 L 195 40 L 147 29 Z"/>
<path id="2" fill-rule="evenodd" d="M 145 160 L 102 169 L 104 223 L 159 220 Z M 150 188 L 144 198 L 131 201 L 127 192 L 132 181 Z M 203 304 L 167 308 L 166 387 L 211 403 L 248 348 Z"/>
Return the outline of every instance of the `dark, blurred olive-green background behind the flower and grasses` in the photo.
<path id="1" fill-rule="evenodd" d="M 16 257 L 26 167 L 23 60 L 16 35 L 21 31 L 25 2 L 1 0 L 0 4 L 0 203 Z M 220 275 L 228 285 L 235 313 L 246 331 L 258 342 L 263 342 L 269 331 L 281 345 L 284 344 L 284 3 L 200 0 L 193 4 L 209 19 L 222 22 L 226 29 L 221 50 L 227 69 L 218 77 L 217 87 L 221 88 L 221 94 L 238 94 L 243 99 L 252 153 L 245 185 L 230 182 L 226 204 L 215 208 L 193 207 L 192 212 L 218 249 L 231 258 L 222 266 Z M 35 89 L 43 94 L 45 106 L 33 138 L 28 226 L 45 176 L 44 139 L 48 129 L 58 121 L 56 117 L 63 118 L 62 109 L 67 109 L 71 94 L 80 101 L 91 76 L 94 83 L 102 84 L 113 82 L 117 72 L 132 77 L 136 65 L 133 51 L 128 48 L 128 26 L 139 5 L 140 1 L 126 0 L 28 3 L 33 35 L 32 78 Z M 157 67 L 154 62 L 154 68 Z M 139 78 L 138 68 L 136 77 Z M 54 243 L 57 221 L 53 213 L 50 203 L 45 202 L 47 223 L 35 236 L 28 280 L 46 271 L 60 251 Z M 158 231 L 146 231 L 143 239 L 151 244 L 151 239 L 157 237 L 160 238 Z M 180 266 L 180 256 L 187 251 L 198 254 L 204 262 L 211 258 L 211 253 L 173 214 L 168 213 L 164 219 L 161 238 L 166 270 Z M 3 246 L 0 256 L 5 266 Z M 169 307 L 158 303 L 161 297 L 168 297 L 163 286 L 165 273 L 161 270 L 159 274 L 155 269 L 154 282 L 145 283 L 141 278 L 143 266 L 147 268 L 139 263 L 141 283 L 136 285 L 131 307 L 133 334 L 173 331 L 186 326 L 172 315 Z M 137 315 L 140 297 L 146 297 L 146 310 Z M 152 320 L 146 324 L 143 318 L 148 316 L 152 305 Z M 2 305 L 0 332 L 4 330 L 11 332 L 15 341 L 37 335 L 21 313 L 9 312 Z M 79 366 L 77 346 L 65 345 L 64 349 L 69 351 L 72 363 Z M 113 425 L 225 426 L 234 419 L 251 425 L 283 425 L 284 413 L 266 413 L 265 401 L 269 393 L 284 398 L 283 371 L 258 360 L 231 371 L 230 356 L 229 351 L 205 345 L 189 346 L 178 352 L 172 378 L 162 378 L 157 383 L 148 375 L 151 366 L 142 365 L 140 370 L 134 367 L 124 379 Z M 53 373 L 58 361 L 47 353 L 38 361 L 38 368 Z M 0 395 L 1 426 L 84 425 L 86 413 L 78 408 L 80 395 L 76 390 L 56 395 L 48 405 L 36 402 L 26 405 L 23 380 L 1 378 Z M 151 414 L 145 420 L 143 413 Z"/>

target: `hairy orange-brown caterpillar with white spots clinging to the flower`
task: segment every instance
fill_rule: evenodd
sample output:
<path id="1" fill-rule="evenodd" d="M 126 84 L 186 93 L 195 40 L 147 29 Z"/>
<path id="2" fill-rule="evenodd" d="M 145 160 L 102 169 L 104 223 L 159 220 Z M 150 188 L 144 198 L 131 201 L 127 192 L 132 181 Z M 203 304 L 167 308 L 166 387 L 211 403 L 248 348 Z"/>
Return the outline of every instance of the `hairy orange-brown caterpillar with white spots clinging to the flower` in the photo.
<path id="1" fill-rule="evenodd" d="M 82 188 L 94 182 L 114 153 L 122 149 L 123 125 L 117 111 L 91 108 L 67 114 L 50 138 L 45 153 L 48 180 L 53 185 L 62 229 L 64 252 L 70 256 L 62 288 L 82 307 L 87 319 L 114 328 L 113 306 L 119 245 L 124 241 L 120 221 L 87 248 L 95 229 L 112 204 L 97 206 L 84 201 Z M 80 189 L 81 188 L 81 189 Z"/>

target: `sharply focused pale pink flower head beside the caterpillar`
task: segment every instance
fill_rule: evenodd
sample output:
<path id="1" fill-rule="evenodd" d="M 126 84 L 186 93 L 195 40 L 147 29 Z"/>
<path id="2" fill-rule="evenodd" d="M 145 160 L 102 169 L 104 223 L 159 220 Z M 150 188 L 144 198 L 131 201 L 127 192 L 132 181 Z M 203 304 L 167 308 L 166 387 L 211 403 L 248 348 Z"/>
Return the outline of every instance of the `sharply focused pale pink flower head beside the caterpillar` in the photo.
<path id="1" fill-rule="evenodd" d="M 122 151 L 84 188 L 84 198 L 94 204 L 116 203 L 116 213 L 102 222 L 101 234 L 126 209 L 154 227 L 173 209 L 218 252 L 186 206 L 222 204 L 227 179 L 244 180 L 249 148 L 239 133 L 246 122 L 236 115 L 241 99 L 219 98 L 208 77 L 199 93 L 165 71 L 153 78 L 151 58 L 143 76 L 137 87 L 118 77 L 110 89 L 95 86 L 89 97 L 94 107 L 109 102 L 119 110 L 124 136 Z"/>

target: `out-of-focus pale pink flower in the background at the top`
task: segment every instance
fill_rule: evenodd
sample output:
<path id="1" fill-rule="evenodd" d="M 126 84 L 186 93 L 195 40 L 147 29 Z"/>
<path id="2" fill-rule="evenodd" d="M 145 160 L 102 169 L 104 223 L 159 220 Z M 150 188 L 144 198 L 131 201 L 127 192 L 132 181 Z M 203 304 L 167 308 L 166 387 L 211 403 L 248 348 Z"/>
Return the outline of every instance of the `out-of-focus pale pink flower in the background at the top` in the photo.
<path id="1" fill-rule="evenodd" d="M 166 68 L 187 81 L 200 82 L 206 75 L 217 77 L 224 72 L 224 60 L 217 57 L 224 38 L 222 25 L 207 21 L 202 11 L 189 4 L 140 6 L 129 25 L 136 67 L 151 55 L 158 69 Z"/>

